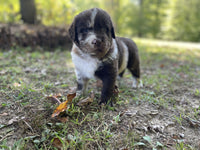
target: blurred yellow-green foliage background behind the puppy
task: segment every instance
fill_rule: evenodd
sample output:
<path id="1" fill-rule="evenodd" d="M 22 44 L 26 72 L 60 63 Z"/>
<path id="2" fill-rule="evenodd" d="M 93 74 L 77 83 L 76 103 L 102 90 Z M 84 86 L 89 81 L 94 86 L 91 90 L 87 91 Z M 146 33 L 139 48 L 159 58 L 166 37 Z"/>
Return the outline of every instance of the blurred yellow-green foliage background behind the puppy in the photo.
<path id="1" fill-rule="evenodd" d="M 35 0 L 37 19 L 48 26 L 69 25 L 79 12 L 100 7 L 117 33 L 167 40 L 200 41 L 199 0 Z M 21 23 L 19 0 L 0 1 L 0 22 Z"/>

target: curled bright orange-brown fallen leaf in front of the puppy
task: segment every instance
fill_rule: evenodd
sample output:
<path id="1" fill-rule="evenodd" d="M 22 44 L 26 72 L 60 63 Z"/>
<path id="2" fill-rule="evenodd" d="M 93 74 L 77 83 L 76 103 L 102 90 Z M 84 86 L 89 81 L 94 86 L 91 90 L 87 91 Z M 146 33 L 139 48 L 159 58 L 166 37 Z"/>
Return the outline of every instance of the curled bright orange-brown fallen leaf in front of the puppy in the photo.
<path id="1" fill-rule="evenodd" d="M 76 96 L 76 93 L 68 94 L 67 100 L 65 102 L 60 103 L 60 105 L 54 110 L 51 117 L 58 116 L 61 112 L 67 110 L 67 104 L 73 100 L 73 98 Z"/>

